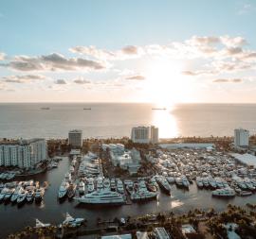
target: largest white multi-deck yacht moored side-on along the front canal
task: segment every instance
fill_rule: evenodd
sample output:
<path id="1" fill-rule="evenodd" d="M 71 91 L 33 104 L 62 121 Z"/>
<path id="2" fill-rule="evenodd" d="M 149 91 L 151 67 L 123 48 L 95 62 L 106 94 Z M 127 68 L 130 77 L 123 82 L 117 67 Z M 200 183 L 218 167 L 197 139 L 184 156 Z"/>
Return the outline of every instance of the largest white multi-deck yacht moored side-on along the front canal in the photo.
<path id="1" fill-rule="evenodd" d="M 76 197 L 81 203 L 85 204 L 123 204 L 123 197 L 117 193 L 110 191 L 109 189 L 101 189 L 94 191 L 93 193 L 86 194 L 85 196 Z"/>

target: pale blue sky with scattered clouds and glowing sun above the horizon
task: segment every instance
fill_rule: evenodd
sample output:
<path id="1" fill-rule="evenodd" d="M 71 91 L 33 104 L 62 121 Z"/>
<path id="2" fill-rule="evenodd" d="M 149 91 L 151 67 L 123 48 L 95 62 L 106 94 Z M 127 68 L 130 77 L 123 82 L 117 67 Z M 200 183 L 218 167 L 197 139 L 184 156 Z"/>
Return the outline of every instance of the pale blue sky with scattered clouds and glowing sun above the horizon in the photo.
<path id="1" fill-rule="evenodd" d="M 0 2 L 0 102 L 256 103 L 256 1 Z"/>

